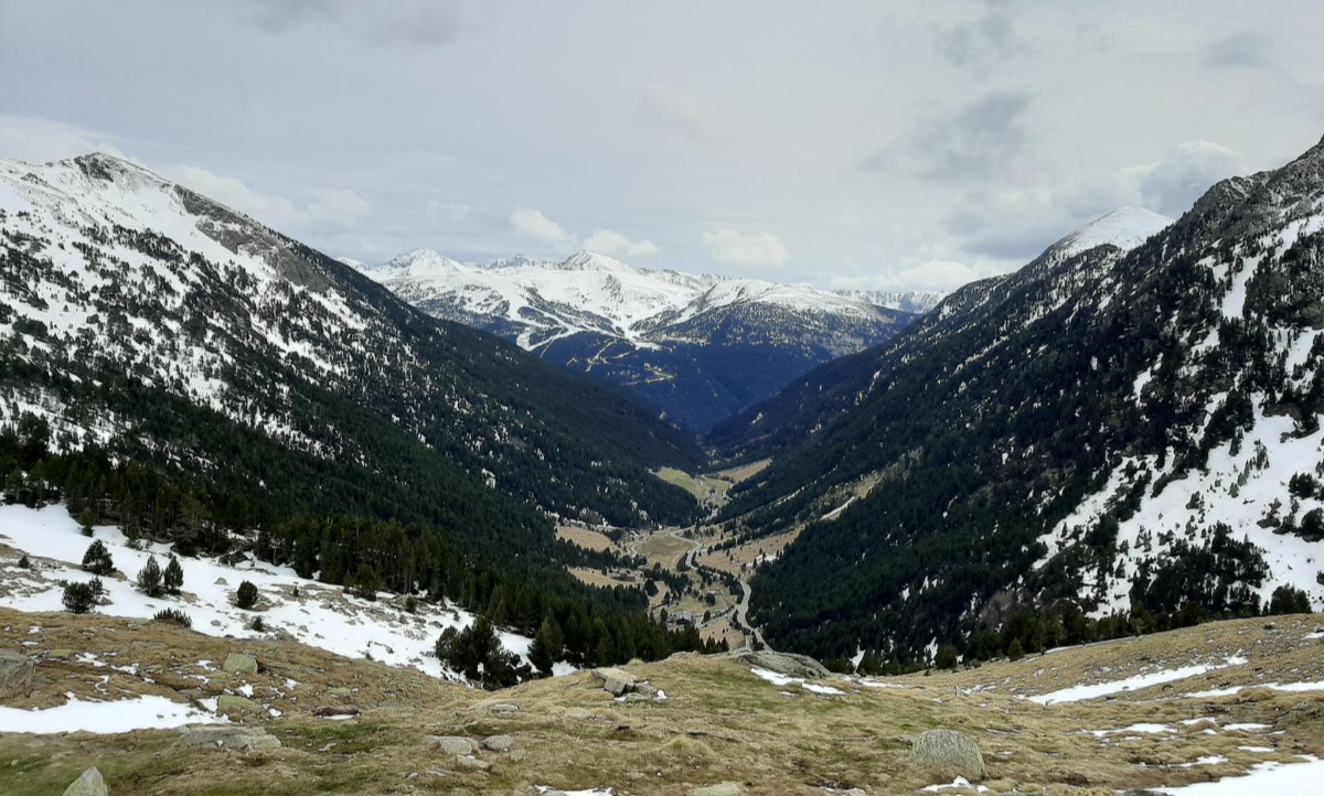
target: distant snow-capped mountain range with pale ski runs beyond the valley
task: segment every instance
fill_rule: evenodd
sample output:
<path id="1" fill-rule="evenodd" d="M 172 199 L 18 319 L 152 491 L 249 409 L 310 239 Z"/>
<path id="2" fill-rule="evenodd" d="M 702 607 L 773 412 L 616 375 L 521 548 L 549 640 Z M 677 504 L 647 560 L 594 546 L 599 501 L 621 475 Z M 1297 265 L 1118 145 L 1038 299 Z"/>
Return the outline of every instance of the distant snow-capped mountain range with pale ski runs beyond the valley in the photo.
<path id="1" fill-rule="evenodd" d="M 364 274 L 433 316 L 625 386 L 696 431 L 912 319 L 867 299 L 649 271 L 588 251 L 475 266 L 420 249 Z"/>

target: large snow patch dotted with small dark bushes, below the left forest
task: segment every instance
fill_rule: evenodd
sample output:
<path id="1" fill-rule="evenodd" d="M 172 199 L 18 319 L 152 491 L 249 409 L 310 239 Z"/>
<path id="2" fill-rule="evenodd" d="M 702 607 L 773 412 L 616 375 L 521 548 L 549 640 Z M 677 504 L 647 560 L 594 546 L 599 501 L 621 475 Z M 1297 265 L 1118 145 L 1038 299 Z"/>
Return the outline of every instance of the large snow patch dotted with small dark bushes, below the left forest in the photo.
<path id="1" fill-rule="evenodd" d="M 213 559 L 184 558 L 183 595 L 152 599 L 134 587 L 134 578 L 155 555 L 162 569 L 169 555 L 166 545 L 136 549 L 113 526 L 98 526 L 93 536 L 110 551 L 115 569 L 124 578 L 102 578 L 110 604 L 97 608 L 101 614 L 151 619 L 162 608 L 180 608 L 192 619 L 195 631 L 209 636 L 261 637 L 281 629 L 310 647 L 348 657 L 364 657 L 395 666 L 412 666 L 433 677 L 462 680 L 442 666 L 432 655 L 441 631 L 465 628 L 473 615 L 454 607 L 418 602 L 416 614 L 387 600 L 368 602 L 350 596 L 339 586 L 299 578 L 289 567 L 245 561 L 237 566 Z M 9 582 L 9 594 L 0 604 L 20 611 L 64 611 L 60 580 L 87 582 L 93 575 L 79 569 L 91 539 L 82 536 L 78 524 L 62 505 L 30 509 L 23 505 L 0 506 L 0 543 L 8 543 L 33 559 L 32 570 L 0 559 L 0 578 Z M 17 558 L 17 555 L 13 555 Z M 50 559 L 50 561 L 38 561 Z M 242 580 L 258 588 L 262 611 L 241 611 L 232 604 Z M 298 596 L 295 596 L 295 591 Z M 391 596 L 391 595 L 383 595 Z M 254 632 L 249 624 L 262 617 L 266 629 Z M 500 633 L 502 644 L 527 660 L 531 640 L 515 633 Z M 556 673 L 573 668 L 557 665 Z"/>

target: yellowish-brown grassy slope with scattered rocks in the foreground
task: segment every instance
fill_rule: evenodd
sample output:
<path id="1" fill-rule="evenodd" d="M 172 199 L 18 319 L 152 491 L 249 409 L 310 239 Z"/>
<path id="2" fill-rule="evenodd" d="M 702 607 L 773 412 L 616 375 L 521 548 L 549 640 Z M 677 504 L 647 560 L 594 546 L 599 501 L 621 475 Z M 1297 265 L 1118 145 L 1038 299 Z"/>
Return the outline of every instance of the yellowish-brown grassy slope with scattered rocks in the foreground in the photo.
<path id="1" fill-rule="evenodd" d="M 42 631 L 30 633 L 33 625 Z M 978 740 L 989 767 L 985 784 L 996 792 L 1018 787 L 1022 792 L 1104 793 L 1181 784 L 1239 774 L 1266 759 L 1324 755 L 1324 692 L 1253 688 L 1221 698 L 1184 696 L 1229 685 L 1324 680 L 1324 641 L 1304 639 L 1316 617 L 1283 617 L 1276 625 L 1270 631 L 1263 620 L 1219 623 L 957 673 L 894 678 L 891 684 L 899 688 L 833 682 L 846 692 L 843 697 L 779 689 L 732 660 L 682 656 L 629 666 L 665 689 L 670 701 L 617 703 L 588 674 L 486 694 L 293 643 L 230 641 L 159 623 L 0 610 L 0 645 L 5 648 L 34 641 L 25 648 L 34 656 L 71 649 L 110 660 L 117 653 L 117 665 L 138 662 L 138 670 L 155 681 L 93 668 L 77 657 L 45 658 L 32 694 L 7 701 L 11 706 L 57 705 L 65 692 L 90 696 L 109 673 L 102 688 L 124 696 L 179 698 L 177 692 L 192 688 L 214 696 L 248 682 L 258 701 L 285 713 L 262 722 L 283 748 L 248 755 L 175 751 L 171 730 L 115 736 L 0 735 L 0 760 L 15 762 L 0 766 L 0 792 L 58 793 L 95 764 L 117 796 L 531 793 L 535 784 L 678 795 L 723 780 L 743 783 L 747 793 L 821 793 L 816 787 L 828 784 L 898 793 L 943 780 L 907 759 L 910 739 L 932 727 L 960 729 Z M 236 649 L 254 652 L 266 670 L 246 677 L 212 673 L 207 684 L 188 677 L 201 672 L 193 661 L 222 660 Z M 1113 699 L 1041 707 L 1016 696 L 1233 655 L 1250 661 Z M 297 701 L 290 694 L 271 696 L 287 677 L 301 682 Z M 359 690 L 340 699 L 330 693 L 332 688 Z M 363 709 L 363 715 L 348 722 L 310 717 L 319 705 L 344 701 Z M 520 710 L 504 717 L 490 710 L 494 702 Z M 1204 730 L 1217 725 L 1180 723 L 1202 717 L 1218 725 L 1259 722 L 1272 730 L 1207 735 Z M 1166 723 L 1176 731 L 1111 738 L 1083 733 L 1136 722 Z M 491 763 L 489 772 L 467 770 L 424 743 L 428 734 L 482 738 L 498 733 L 514 735 L 512 750 L 519 754 L 483 752 Z M 1207 755 L 1229 762 L 1169 767 Z"/>

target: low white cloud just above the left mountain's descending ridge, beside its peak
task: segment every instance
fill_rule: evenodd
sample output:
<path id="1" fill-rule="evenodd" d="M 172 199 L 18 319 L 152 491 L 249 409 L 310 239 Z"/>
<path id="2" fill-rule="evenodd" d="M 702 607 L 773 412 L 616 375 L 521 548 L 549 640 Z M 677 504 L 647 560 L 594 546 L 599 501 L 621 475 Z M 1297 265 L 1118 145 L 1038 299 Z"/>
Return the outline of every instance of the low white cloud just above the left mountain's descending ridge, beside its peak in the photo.
<path id="1" fill-rule="evenodd" d="M 160 173 L 203 196 L 248 213 L 262 223 L 291 231 L 348 227 L 372 212 L 367 200 L 343 188 L 312 190 L 301 205 L 287 197 L 250 188 L 238 177 L 195 165 L 160 169 Z"/>

